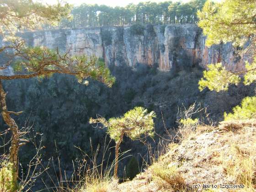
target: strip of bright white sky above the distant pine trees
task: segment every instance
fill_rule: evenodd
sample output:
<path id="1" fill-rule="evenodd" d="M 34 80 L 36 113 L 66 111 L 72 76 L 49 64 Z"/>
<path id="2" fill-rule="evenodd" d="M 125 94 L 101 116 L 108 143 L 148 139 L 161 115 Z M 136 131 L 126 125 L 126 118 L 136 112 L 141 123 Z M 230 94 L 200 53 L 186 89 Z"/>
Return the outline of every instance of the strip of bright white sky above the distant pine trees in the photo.
<path id="1" fill-rule="evenodd" d="M 37 0 L 37 1 L 48 3 L 48 4 L 54 4 L 58 0 Z M 86 4 L 108 5 L 108 6 L 115 7 L 115 6 L 126 6 L 129 3 L 138 4 L 139 2 L 145 2 L 145 1 L 162 2 L 167 0 L 64 0 L 64 1 L 73 5 L 80 5 L 82 3 L 86 3 Z M 172 0 L 172 1 L 174 2 L 178 0 Z M 190 0 L 181 0 L 181 1 L 188 2 Z M 221 0 L 213 0 L 213 1 L 221 1 Z"/>

